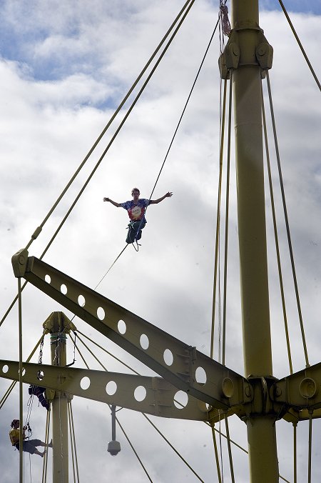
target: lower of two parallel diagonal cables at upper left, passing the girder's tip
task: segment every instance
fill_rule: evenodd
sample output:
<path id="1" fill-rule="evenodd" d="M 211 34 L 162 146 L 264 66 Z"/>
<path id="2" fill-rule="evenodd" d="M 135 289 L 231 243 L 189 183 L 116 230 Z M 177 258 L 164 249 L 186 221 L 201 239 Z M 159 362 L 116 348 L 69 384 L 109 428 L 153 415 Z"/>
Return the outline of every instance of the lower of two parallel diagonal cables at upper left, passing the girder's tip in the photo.
<path id="1" fill-rule="evenodd" d="M 51 246 L 51 244 L 53 243 L 54 239 L 56 238 L 58 232 L 60 231 L 61 227 L 63 226 L 64 222 L 66 221 L 66 219 L 68 218 L 69 214 L 71 214 L 71 211 L 73 209 L 73 207 L 76 205 L 76 202 L 78 201 L 78 199 L 80 198 L 81 194 L 83 193 L 84 189 L 86 188 L 86 186 L 88 185 L 89 181 L 91 180 L 93 174 L 96 172 L 96 169 L 98 169 L 98 166 L 101 164 L 101 161 L 103 160 L 104 156 L 106 155 L 108 149 L 111 147 L 111 144 L 113 144 L 113 141 L 116 139 L 116 136 L 118 135 L 119 131 L 121 130 L 121 128 L 123 127 L 123 124 L 125 124 L 125 121 L 126 119 L 128 118 L 129 114 L 131 114 L 131 111 L 133 110 L 133 107 L 136 105 L 139 97 L 141 96 L 143 90 L 146 88 L 146 85 L 148 84 L 148 82 L 150 81 L 151 79 L 151 76 L 153 76 L 153 73 L 156 71 L 158 65 L 160 64 L 161 62 L 161 59 L 163 59 L 163 56 L 165 55 L 165 52 L 168 50 L 168 47 L 170 46 L 171 42 L 173 41 L 175 35 L 177 34 L 178 30 L 180 29 L 180 26 L 183 24 L 183 21 L 185 20 L 188 12 L 190 11 L 190 8 L 193 6 L 195 0 L 190 0 L 190 5 L 188 6 L 188 9 L 185 11 L 185 14 L 183 14 L 183 18 L 180 19 L 180 22 L 178 23 L 178 26 L 175 28 L 173 34 L 170 36 L 170 39 L 168 40 L 168 43 L 165 45 L 163 51 L 161 52 L 161 55 L 159 56 L 158 60 L 156 61 L 156 64 L 153 66 L 153 69 L 151 70 L 151 73 L 148 74 L 148 77 L 146 79 L 146 81 L 143 83 L 143 86 L 141 87 L 140 91 L 138 91 L 138 94 L 136 96 L 136 98 L 133 100 L 130 108 L 128 109 L 126 115 L 123 117 L 123 120 L 121 121 L 121 124 L 118 126 L 118 128 L 116 129 L 116 132 L 113 134 L 112 138 L 111 138 L 111 141 L 108 143 L 106 149 L 103 151 L 103 154 L 101 155 L 101 157 L 98 159 L 98 162 L 96 163 L 96 166 L 94 166 L 93 170 L 91 171 L 91 174 L 88 176 L 88 178 L 86 179 L 85 183 L 83 184 L 83 187 L 81 188 L 81 190 L 79 191 L 78 195 L 76 196 L 76 199 L 73 201 L 73 204 L 71 204 L 70 208 L 68 209 L 66 215 L 64 216 L 63 220 L 61 221 L 61 224 L 59 224 L 58 226 L 58 229 L 56 229 L 54 235 L 51 237 L 51 240 L 49 241 L 49 244 L 47 244 L 46 248 L 44 249 L 44 252 L 41 254 L 41 257 L 40 259 L 43 259 L 44 255 L 46 254 L 46 252 L 48 251 L 49 247 Z M 35 234 L 36 232 L 39 231 L 39 228 L 36 229 L 35 231 Z M 41 231 L 41 229 L 40 229 Z M 39 233 L 40 233 L 39 231 Z M 39 234 L 38 233 L 38 234 Z M 38 236 L 38 234 L 36 236 Z M 36 236 L 34 236 L 34 239 L 36 239 Z M 26 246 L 26 248 L 28 248 L 30 246 L 30 242 L 29 244 Z M 26 287 L 26 284 L 28 282 L 24 282 L 21 290 L 24 289 L 24 287 Z M 14 301 L 11 303 L 9 309 L 6 311 L 6 314 L 4 314 L 4 317 L 1 319 L 0 321 L 0 327 L 1 327 L 1 324 L 3 324 L 4 320 L 6 319 L 6 317 L 8 316 L 9 312 L 11 311 L 12 307 L 14 307 L 14 304 L 16 303 L 18 299 L 18 296 L 16 296 L 14 298 Z"/>

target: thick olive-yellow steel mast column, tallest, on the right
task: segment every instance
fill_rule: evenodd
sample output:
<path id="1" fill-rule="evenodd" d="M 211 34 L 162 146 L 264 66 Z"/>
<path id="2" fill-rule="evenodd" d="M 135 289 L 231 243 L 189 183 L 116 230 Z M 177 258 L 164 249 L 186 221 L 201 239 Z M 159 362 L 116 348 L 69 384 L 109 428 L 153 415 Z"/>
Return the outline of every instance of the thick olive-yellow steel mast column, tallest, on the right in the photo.
<path id="1" fill-rule="evenodd" d="M 272 375 L 258 46 L 258 0 L 232 0 L 240 60 L 233 71 L 245 377 Z M 235 50 L 235 52 L 238 49 Z M 263 383 L 264 380 L 262 379 Z M 260 398 L 258 398 L 260 399 Z M 264 404 L 247 418 L 250 481 L 277 482 L 275 419 Z"/>

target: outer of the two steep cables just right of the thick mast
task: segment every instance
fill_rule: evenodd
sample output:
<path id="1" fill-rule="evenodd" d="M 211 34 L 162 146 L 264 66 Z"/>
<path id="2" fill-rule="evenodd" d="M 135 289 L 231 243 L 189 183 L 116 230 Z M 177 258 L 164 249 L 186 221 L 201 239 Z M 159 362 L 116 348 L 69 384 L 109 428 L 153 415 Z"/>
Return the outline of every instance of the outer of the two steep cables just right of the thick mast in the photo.
<path id="1" fill-rule="evenodd" d="M 276 154 L 276 158 L 277 158 L 277 169 L 278 169 L 278 172 L 279 172 L 280 188 L 281 188 L 281 195 L 282 195 L 282 204 L 283 204 L 283 211 L 284 211 L 284 216 L 285 216 L 285 228 L 286 228 L 286 231 L 287 231 L 287 244 L 288 244 L 289 252 L 290 252 L 292 277 L 293 277 L 293 283 L 294 283 L 294 286 L 295 286 L 295 297 L 296 297 L 296 300 L 297 300 L 297 313 L 298 313 L 299 321 L 300 321 L 302 344 L 303 344 L 303 350 L 304 350 L 304 353 L 305 353 L 305 364 L 306 364 L 306 367 L 310 367 L 309 358 L 307 356 L 307 344 L 305 342 L 305 329 L 304 329 L 303 319 L 302 319 L 299 289 L 297 287 L 297 276 L 296 276 L 296 273 L 295 273 L 295 262 L 294 262 L 294 256 L 293 256 L 293 250 L 292 250 L 290 225 L 289 225 L 289 219 L 287 217 L 287 205 L 286 205 L 286 201 L 285 201 L 285 190 L 284 190 L 284 184 L 283 184 L 283 178 L 282 178 L 282 169 L 281 169 L 281 163 L 280 163 L 279 147 L 278 147 L 278 143 L 277 143 L 275 116 L 274 116 L 274 109 L 273 109 L 273 104 L 272 104 L 272 93 L 271 93 L 270 76 L 269 76 L 268 70 L 266 71 L 266 79 L 267 79 L 267 90 L 268 90 L 269 101 L 270 101 L 270 111 L 271 111 L 273 136 L 274 136 L 274 141 L 275 141 L 275 154 Z"/>

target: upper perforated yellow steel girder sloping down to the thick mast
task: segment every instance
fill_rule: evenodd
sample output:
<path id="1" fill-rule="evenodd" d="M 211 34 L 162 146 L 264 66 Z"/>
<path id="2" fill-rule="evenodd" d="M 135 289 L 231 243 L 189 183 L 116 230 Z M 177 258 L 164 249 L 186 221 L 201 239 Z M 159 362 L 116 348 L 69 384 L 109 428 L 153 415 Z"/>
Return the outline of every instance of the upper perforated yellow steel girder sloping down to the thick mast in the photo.
<path id="1" fill-rule="evenodd" d="M 184 344 L 146 320 L 59 272 L 26 250 L 12 258 L 16 277 L 24 277 L 101 334 L 153 369 L 174 387 L 216 409 L 248 402 L 245 378 L 195 347 Z M 198 382 L 198 374 L 202 381 Z"/>

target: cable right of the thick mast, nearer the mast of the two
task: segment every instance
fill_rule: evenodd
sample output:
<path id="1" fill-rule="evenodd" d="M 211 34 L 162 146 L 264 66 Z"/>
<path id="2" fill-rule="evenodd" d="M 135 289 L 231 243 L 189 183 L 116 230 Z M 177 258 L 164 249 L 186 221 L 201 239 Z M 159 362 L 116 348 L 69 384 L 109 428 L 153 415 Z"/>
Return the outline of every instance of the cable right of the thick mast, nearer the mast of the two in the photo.
<path id="1" fill-rule="evenodd" d="M 274 239 L 275 239 L 275 251 L 277 255 L 277 269 L 279 273 L 280 294 L 281 294 L 281 302 L 282 302 L 283 321 L 284 321 L 284 327 L 285 327 L 285 339 L 287 344 L 287 359 L 289 361 L 290 374 L 292 374 L 293 367 L 292 367 L 290 337 L 289 337 L 289 330 L 287 326 L 287 311 L 285 308 L 285 294 L 284 294 L 283 279 L 282 279 L 279 239 L 277 235 L 277 222 L 276 222 L 276 215 L 275 215 L 275 203 L 274 203 L 273 186 L 272 186 L 270 152 L 269 152 L 269 146 L 267 141 L 267 126 L 266 126 L 266 119 L 265 119 L 265 106 L 264 106 L 262 83 L 261 83 L 261 100 L 262 100 L 263 133 L 264 133 L 264 140 L 265 140 L 265 155 L 266 155 L 266 161 L 267 161 L 267 175 L 268 175 L 269 187 L 270 187 L 270 200 L 271 200 L 272 221 L 273 221 Z"/>

